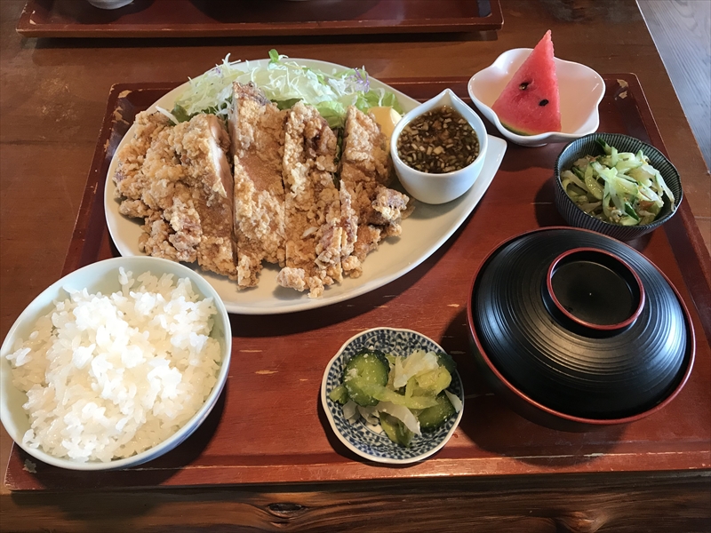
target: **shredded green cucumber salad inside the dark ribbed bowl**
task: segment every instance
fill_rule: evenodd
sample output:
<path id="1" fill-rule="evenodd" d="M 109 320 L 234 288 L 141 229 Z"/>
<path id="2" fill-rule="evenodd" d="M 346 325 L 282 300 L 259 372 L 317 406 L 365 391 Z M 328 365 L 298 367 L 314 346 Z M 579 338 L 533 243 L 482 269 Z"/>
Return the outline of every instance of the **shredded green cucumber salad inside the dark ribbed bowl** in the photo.
<path id="1" fill-rule="evenodd" d="M 563 190 L 583 211 L 612 224 L 642 226 L 659 215 L 664 195 L 674 211 L 674 194 L 642 150 L 618 152 L 597 142 L 604 155 L 586 155 L 561 172 Z"/>

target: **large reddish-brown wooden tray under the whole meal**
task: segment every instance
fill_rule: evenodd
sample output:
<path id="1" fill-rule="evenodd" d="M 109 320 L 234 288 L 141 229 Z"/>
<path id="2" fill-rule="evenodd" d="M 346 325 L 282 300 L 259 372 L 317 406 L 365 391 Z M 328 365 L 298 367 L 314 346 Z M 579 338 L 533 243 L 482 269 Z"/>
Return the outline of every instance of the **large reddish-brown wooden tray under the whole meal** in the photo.
<path id="1" fill-rule="evenodd" d="M 466 96 L 466 82 L 457 78 L 390 84 L 413 98 L 427 99 L 445 87 Z M 626 132 L 665 151 L 636 77 L 609 75 L 605 83 L 600 131 Z M 112 89 L 65 273 L 117 255 L 103 210 L 108 164 L 133 116 L 174 86 Z M 499 172 L 469 219 L 439 251 L 397 281 L 312 311 L 231 315 L 234 338 L 226 390 L 196 434 L 164 457 L 127 470 L 82 473 L 37 463 L 15 446 L 6 485 L 14 490 L 110 489 L 707 469 L 711 260 L 687 203 L 662 229 L 633 243 L 680 290 L 696 330 L 691 378 L 666 409 L 627 426 L 586 434 L 556 432 L 509 410 L 476 373 L 466 320 L 472 276 L 489 251 L 507 238 L 564 224 L 553 204 L 551 179 L 562 148 L 509 144 Z M 319 402 L 326 363 L 356 332 L 376 326 L 419 330 L 459 365 L 464 416 L 451 441 L 419 464 L 379 465 L 357 457 L 332 433 Z"/>

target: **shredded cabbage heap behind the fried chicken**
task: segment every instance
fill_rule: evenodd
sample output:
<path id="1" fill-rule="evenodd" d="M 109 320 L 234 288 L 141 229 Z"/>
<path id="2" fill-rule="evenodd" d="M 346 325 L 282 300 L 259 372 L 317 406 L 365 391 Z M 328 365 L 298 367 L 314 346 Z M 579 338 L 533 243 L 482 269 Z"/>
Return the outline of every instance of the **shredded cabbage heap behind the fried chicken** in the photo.
<path id="1" fill-rule="evenodd" d="M 230 61 L 229 54 L 220 65 L 189 81 L 188 89 L 175 101 L 172 115 L 180 122 L 197 113 L 212 113 L 227 119 L 232 99 L 232 84 L 253 82 L 280 108 L 292 107 L 303 100 L 324 116 L 332 128 L 343 125 L 348 106 L 361 111 L 390 106 L 402 113 L 395 94 L 371 88 L 364 68 L 327 73 L 302 67 L 276 50 L 269 51 L 267 66 L 250 61 Z"/>

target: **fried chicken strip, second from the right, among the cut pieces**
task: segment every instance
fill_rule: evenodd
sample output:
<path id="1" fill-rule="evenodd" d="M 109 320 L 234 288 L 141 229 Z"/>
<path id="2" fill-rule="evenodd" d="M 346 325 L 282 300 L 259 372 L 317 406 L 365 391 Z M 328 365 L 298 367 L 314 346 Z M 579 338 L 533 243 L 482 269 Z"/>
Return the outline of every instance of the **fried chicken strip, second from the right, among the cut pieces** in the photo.
<path id="1" fill-rule="evenodd" d="M 286 266 L 277 281 L 308 290 L 311 298 L 342 277 L 336 145 L 335 133 L 315 107 L 301 102 L 292 107 L 284 135 Z"/>

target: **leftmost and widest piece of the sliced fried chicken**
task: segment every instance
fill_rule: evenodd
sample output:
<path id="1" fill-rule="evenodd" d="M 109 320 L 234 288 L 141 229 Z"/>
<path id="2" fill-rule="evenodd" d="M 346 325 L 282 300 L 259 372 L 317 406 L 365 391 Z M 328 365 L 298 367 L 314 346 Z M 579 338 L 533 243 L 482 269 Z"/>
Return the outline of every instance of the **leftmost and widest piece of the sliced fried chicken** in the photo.
<path id="1" fill-rule="evenodd" d="M 158 113 L 136 117 L 116 154 L 119 212 L 144 219 L 139 249 L 236 276 L 229 137 L 214 115 L 172 126 Z"/>

